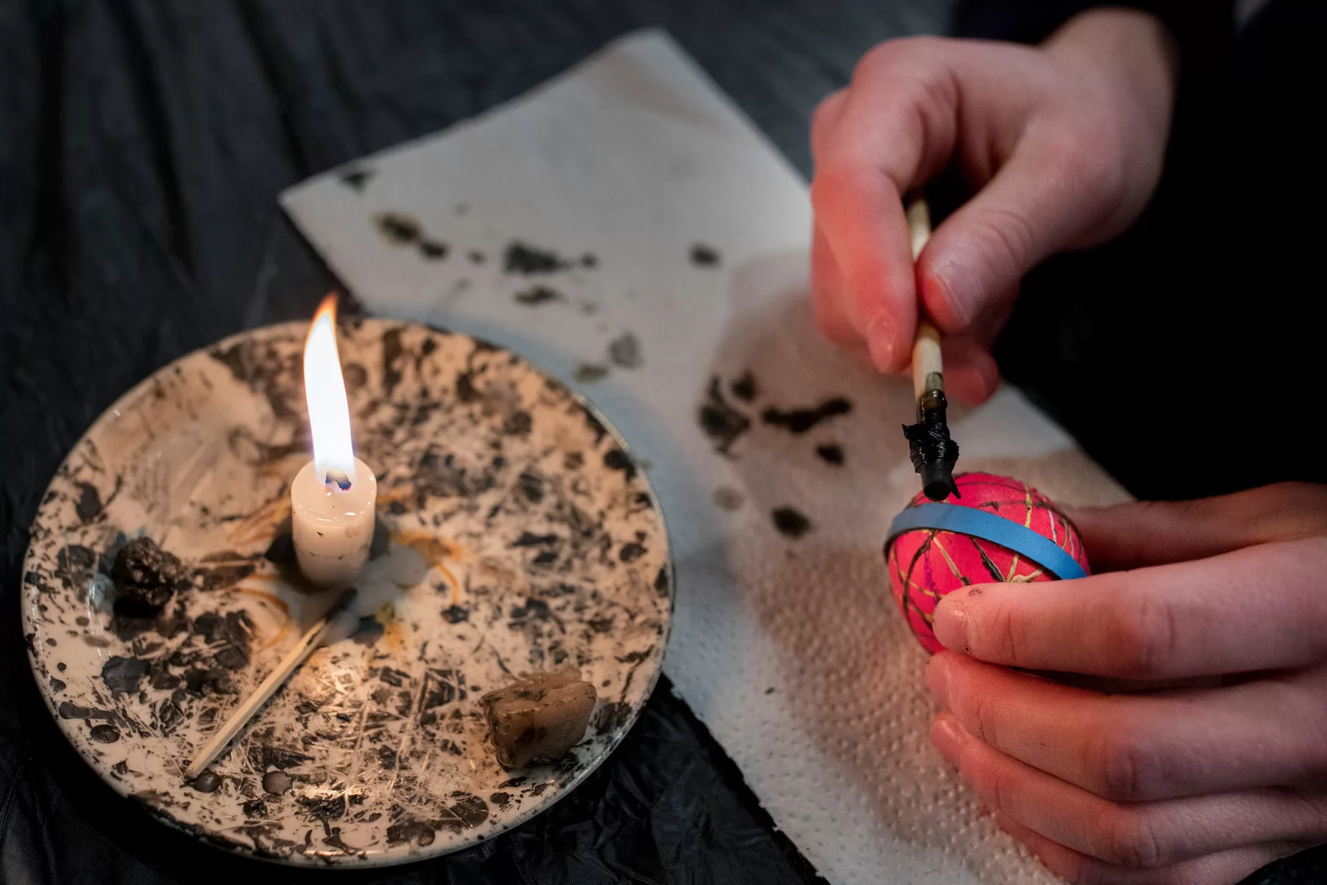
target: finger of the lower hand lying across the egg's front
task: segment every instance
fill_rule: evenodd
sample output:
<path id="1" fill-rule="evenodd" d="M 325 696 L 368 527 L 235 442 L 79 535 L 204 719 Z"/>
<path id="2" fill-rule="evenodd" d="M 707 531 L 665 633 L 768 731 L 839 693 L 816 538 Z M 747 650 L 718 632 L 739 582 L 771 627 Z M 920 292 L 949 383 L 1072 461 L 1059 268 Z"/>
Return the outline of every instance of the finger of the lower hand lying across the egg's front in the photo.
<path id="1" fill-rule="evenodd" d="M 985 583 L 936 607 L 951 651 L 1032 670 L 1182 679 L 1327 655 L 1327 538 L 1075 581 Z"/>

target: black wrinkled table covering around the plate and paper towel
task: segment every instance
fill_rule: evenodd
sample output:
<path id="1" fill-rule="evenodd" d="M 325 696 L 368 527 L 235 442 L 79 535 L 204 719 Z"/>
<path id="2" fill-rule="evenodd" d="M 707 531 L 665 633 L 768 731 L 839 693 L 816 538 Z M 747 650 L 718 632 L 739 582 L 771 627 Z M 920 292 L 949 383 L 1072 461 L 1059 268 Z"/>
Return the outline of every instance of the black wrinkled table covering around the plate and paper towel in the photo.
<path id="1" fill-rule="evenodd" d="M 102 409 L 176 356 L 309 316 L 337 286 L 277 210 L 280 189 L 642 25 L 666 27 L 809 173 L 815 102 L 872 44 L 946 15 L 922 0 L 0 4 L 0 882 L 318 876 L 204 848 L 102 784 L 37 695 L 17 599 L 37 502 Z M 1253 881 L 1322 881 L 1319 862 Z M 336 877 L 816 881 L 666 680 L 548 813 L 441 861 Z"/>

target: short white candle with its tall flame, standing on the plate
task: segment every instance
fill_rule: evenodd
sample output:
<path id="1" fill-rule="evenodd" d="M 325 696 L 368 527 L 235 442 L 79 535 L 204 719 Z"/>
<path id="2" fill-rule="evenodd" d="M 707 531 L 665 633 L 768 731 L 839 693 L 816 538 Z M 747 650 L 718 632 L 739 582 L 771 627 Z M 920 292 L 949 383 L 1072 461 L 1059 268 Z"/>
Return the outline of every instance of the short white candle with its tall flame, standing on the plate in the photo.
<path id="1" fill-rule="evenodd" d="M 322 299 L 304 343 L 304 396 L 313 460 L 291 485 L 295 553 L 313 583 L 344 585 L 369 558 L 378 480 L 350 444 L 350 405 L 336 349 L 336 295 Z"/>

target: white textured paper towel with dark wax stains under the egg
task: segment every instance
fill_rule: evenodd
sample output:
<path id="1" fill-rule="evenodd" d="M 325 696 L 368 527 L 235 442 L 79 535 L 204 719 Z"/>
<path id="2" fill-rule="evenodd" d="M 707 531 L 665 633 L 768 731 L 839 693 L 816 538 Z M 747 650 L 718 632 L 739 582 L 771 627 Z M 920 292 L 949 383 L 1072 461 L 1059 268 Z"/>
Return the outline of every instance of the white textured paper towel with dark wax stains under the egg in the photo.
<path id="1" fill-rule="evenodd" d="M 893 607 L 880 551 L 917 489 L 898 431 L 910 384 L 817 336 L 805 183 L 665 35 L 629 36 L 523 98 L 281 201 L 373 312 L 508 345 L 622 431 L 648 464 L 677 565 L 666 671 L 821 874 L 1050 881 L 978 817 L 925 738 L 925 654 Z M 378 213 L 411 217 L 446 256 L 394 245 Z M 512 241 L 572 266 L 504 272 Z M 693 262 L 697 243 L 719 264 Z M 535 284 L 556 298 L 515 298 Z M 634 368 L 609 355 L 626 334 Z M 581 383 L 584 364 L 609 372 Z M 746 372 L 752 403 L 727 389 Z M 727 457 L 697 421 L 715 376 L 752 423 Z M 828 396 L 852 412 L 804 435 L 760 421 L 768 405 Z M 1014 474 L 1064 502 L 1127 497 L 1014 389 L 954 417 L 963 469 Z M 841 466 L 817 456 L 829 442 Z M 780 506 L 811 532 L 780 534 Z"/>

